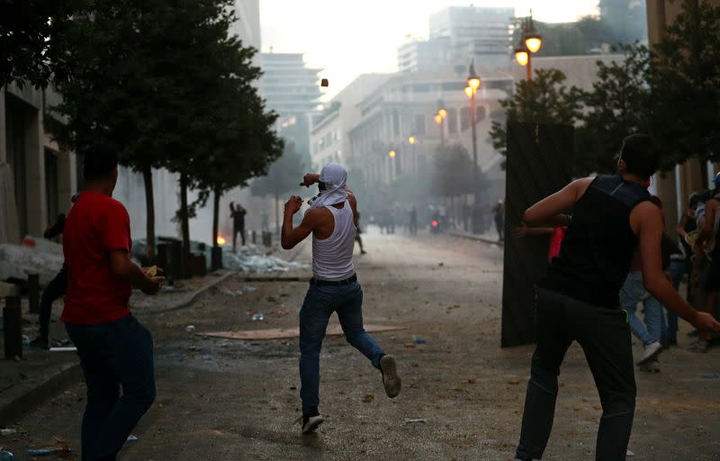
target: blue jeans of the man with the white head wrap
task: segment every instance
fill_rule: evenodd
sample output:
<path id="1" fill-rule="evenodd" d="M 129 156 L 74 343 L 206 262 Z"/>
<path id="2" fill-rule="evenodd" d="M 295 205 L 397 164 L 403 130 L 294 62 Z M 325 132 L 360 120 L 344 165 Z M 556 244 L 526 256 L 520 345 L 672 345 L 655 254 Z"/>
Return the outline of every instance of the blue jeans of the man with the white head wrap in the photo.
<path id="1" fill-rule="evenodd" d="M 333 312 L 351 346 L 380 369 L 385 355 L 373 336 L 363 328 L 363 289 L 360 284 L 343 286 L 311 285 L 300 311 L 300 380 L 302 412 L 320 404 L 320 349 Z"/>

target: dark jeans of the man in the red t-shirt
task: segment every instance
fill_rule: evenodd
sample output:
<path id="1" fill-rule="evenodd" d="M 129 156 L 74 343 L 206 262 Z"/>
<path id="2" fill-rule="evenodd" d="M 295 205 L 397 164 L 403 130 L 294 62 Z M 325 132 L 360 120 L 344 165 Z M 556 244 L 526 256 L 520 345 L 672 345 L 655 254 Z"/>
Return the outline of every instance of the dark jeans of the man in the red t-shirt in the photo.
<path id="1" fill-rule="evenodd" d="M 155 400 L 152 336 L 132 315 L 66 328 L 87 384 L 82 459 L 112 461 Z"/>

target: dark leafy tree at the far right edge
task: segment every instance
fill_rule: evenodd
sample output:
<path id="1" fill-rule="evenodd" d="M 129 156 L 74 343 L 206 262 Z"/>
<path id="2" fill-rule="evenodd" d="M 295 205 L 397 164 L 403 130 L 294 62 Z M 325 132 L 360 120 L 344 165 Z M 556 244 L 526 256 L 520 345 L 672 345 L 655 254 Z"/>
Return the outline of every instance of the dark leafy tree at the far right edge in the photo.
<path id="1" fill-rule="evenodd" d="M 720 6 L 682 0 L 653 53 L 653 135 L 675 163 L 720 160 Z M 704 176 L 705 177 L 705 176 Z"/>

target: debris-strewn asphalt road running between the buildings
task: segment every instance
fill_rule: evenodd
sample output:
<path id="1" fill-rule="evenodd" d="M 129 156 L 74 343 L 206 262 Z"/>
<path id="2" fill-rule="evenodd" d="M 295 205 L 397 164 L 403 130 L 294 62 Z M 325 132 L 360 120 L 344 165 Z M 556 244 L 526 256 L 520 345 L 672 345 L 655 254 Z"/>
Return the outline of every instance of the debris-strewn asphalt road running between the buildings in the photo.
<path id="1" fill-rule="evenodd" d="M 292 327 L 306 289 L 300 282 L 246 282 L 234 276 L 175 312 L 136 312 L 156 339 L 158 397 L 121 452 L 122 460 L 511 460 L 518 441 L 532 347 L 501 349 L 501 249 L 446 236 L 366 235 L 357 258 L 365 321 L 402 330 L 378 333 L 399 360 L 403 391 L 384 396 L 381 377 L 344 339 L 325 340 L 320 411 L 327 420 L 302 436 L 297 339 L 203 339 L 185 332 Z M 299 260 L 310 260 L 307 250 Z M 247 285 L 256 288 L 248 291 Z M 285 312 L 287 311 L 287 313 Z M 264 321 L 251 314 L 264 312 Z M 336 320 L 333 320 L 336 321 Z M 631 449 L 637 460 L 720 459 L 720 351 L 680 348 L 662 371 L 638 373 Z M 415 344 L 413 338 L 425 339 Z M 639 352 L 639 348 L 637 349 Z M 555 426 L 545 459 L 594 458 L 599 399 L 581 349 L 560 377 Z M 17 459 L 53 436 L 79 447 L 83 384 L 19 421 L 0 438 Z M 407 422 L 421 419 L 424 422 Z M 52 459 L 52 457 L 45 458 Z"/>

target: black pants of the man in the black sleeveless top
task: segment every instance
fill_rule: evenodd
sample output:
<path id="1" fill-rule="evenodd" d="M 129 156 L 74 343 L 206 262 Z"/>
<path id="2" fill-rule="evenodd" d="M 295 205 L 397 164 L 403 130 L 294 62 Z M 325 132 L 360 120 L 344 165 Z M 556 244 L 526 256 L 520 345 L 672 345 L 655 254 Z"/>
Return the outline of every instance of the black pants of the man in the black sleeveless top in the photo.
<path id="1" fill-rule="evenodd" d="M 527 384 L 518 459 L 541 459 L 553 427 L 557 376 L 573 340 L 598 387 L 602 418 L 595 459 L 623 461 L 635 414 L 635 369 L 626 313 L 536 289 L 537 347 Z"/>

